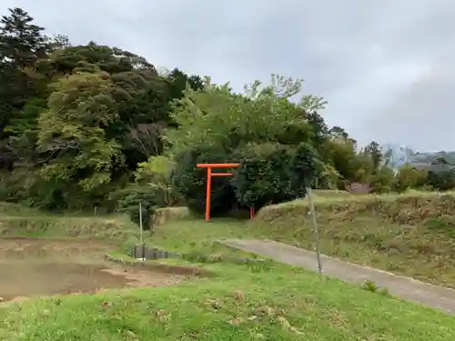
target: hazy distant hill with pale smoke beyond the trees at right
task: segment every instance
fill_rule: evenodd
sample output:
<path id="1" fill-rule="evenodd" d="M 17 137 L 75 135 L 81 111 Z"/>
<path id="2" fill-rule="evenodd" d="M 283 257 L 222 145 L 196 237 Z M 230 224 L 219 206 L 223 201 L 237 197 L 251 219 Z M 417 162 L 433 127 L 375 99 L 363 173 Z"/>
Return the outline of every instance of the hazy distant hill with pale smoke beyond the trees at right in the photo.
<path id="1" fill-rule="evenodd" d="M 383 145 L 385 161 L 392 168 L 399 168 L 405 164 L 425 166 L 430 165 L 439 158 L 444 158 L 450 165 L 455 165 L 455 151 L 440 151 L 436 153 L 415 152 L 407 146 Z"/>

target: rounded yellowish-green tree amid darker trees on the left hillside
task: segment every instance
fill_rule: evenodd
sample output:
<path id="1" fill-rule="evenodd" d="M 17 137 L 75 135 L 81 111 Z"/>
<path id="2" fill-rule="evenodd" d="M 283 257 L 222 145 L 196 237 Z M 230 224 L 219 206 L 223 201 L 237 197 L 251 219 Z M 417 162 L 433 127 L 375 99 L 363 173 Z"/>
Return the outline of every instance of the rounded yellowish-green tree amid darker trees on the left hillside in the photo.
<path id="1" fill-rule="evenodd" d="M 117 119 L 108 75 L 80 73 L 61 79 L 39 116 L 39 150 L 49 161 L 41 169 L 46 179 L 77 179 L 85 190 L 110 181 L 120 145 L 106 138 L 104 127 Z"/>

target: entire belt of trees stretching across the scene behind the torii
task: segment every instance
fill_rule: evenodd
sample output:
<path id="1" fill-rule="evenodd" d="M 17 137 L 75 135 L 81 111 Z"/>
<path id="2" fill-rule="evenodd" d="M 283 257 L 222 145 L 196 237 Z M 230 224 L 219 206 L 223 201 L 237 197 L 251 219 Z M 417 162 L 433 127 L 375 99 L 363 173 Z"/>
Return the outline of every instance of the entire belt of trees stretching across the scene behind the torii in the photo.
<path id="1" fill-rule="evenodd" d="M 195 165 L 208 161 L 241 163 L 233 179 L 214 180 L 220 214 L 304 196 L 305 186 L 455 188 L 453 155 L 415 154 L 424 169 L 392 171 L 378 143 L 359 149 L 329 127 L 327 102 L 301 95 L 301 80 L 272 75 L 237 93 L 177 68 L 159 73 L 121 48 L 48 37 L 25 10 L 9 12 L 0 19 L 0 200 L 201 212 L 206 179 Z"/>

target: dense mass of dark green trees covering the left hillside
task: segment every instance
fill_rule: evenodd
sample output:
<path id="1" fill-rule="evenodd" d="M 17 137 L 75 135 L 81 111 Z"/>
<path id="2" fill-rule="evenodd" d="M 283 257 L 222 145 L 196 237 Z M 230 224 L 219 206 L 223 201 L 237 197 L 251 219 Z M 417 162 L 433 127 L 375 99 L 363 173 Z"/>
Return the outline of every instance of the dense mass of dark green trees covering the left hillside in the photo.
<path id="1" fill-rule="evenodd" d="M 176 126 L 171 104 L 202 80 L 178 69 L 158 75 L 141 56 L 94 42 L 73 46 L 43 30 L 20 8 L 0 22 L 0 167 L 30 180 L 28 190 L 13 190 L 14 176 L 2 186 L 9 200 L 55 199 L 62 207 L 74 206 L 75 196 L 62 197 L 78 186 L 78 201 L 90 206 L 94 193 L 102 201 L 163 152 L 164 131 Z"/>

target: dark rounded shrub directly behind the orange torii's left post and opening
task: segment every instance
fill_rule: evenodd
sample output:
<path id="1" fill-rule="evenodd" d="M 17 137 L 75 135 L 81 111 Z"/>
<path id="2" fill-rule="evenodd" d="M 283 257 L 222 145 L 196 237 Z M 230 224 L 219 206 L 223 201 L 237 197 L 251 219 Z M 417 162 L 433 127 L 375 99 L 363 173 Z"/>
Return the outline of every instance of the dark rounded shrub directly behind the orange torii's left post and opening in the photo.
<path id="1" fill-rule="evenodd" d="M 213 145 L 199 145 L 177 155 L 171 178 L 192 212 L 203 214 L 206 209 L 207 170 L 196 165 L 230 161 L 224 148 Z M 229 178 L 213 177 L 211 188 L 211 215 L 226 214 L 236 206 L 236 196 Z"/>

